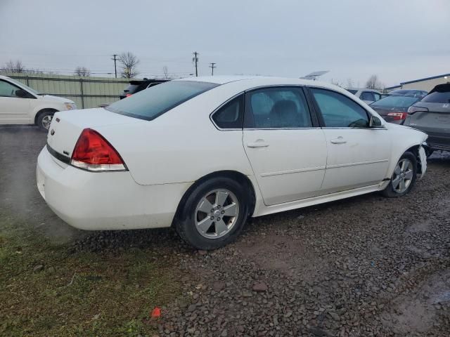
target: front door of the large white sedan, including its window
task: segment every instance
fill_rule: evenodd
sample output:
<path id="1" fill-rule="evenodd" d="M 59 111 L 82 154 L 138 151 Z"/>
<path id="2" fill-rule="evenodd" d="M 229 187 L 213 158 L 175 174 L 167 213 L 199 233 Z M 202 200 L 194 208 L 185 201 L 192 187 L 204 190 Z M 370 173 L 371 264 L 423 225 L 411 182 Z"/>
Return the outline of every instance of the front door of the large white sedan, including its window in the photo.
<path id="1" fill-rule="evenodd" d="M 328 147 L 323 192 L 380 183 L 391 152 L 387 130 L 370 128 L 368 112 L 347 95 L 323 88 L 310 91 Z"/>

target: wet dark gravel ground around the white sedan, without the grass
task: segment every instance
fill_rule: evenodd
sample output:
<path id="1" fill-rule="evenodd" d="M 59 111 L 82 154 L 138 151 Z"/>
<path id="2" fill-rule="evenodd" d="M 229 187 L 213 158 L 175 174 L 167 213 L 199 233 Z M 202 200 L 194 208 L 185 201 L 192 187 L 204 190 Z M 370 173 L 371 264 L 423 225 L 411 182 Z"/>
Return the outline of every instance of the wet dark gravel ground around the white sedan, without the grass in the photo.
<path id="1" fill-rule="evenodd" d="M 154 323 L 160 336 L 450 335 L 448 154 L 433 155 L 406 197 L 255 218 L 237 242 L 206 252 L 172 230 L 72 230 L 34 184 L 44 143 L 35 128 L 0 128 L 0 212 L 37 213 L 30 223 L 74 251 L 158 252 L 183 275 L 183 296 Z"/>

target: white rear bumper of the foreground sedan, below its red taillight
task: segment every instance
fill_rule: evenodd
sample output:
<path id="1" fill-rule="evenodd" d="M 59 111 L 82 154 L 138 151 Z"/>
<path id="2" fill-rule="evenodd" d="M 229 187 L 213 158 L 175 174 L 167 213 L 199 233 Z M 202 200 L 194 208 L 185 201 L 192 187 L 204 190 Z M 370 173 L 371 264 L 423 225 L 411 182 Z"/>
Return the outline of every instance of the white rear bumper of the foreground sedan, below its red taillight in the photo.
<path id="1" fill-rule="evenodd" d="M 42 197 L 61 219 L 82 230 L 169 227 L 189 185 L 139 185 L 128 171 L 83 171 L 58 162 L 46 147 L 37 159 Z"/>

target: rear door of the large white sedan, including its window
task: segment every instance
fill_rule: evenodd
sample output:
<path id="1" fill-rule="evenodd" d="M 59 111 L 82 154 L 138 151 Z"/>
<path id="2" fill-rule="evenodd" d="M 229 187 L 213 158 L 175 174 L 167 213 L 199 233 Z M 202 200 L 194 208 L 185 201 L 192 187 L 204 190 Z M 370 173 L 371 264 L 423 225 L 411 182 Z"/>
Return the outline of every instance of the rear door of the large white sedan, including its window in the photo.
<path id="1" fill-rule="evenodd" d="M 264 204 L 320 194 L 326 141 L 300 87 L 267 87 L 245 94 L 243 146 Z"/>

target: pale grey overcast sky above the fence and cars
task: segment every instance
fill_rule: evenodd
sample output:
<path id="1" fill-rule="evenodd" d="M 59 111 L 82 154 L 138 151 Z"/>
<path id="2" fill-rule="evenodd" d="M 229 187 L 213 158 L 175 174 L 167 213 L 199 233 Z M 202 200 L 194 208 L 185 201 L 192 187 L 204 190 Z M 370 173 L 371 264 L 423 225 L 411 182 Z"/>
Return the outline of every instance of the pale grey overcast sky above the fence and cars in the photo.
<path id="1" fill-rule="evenodd" d="M 199 72 L 386 86 L 450 72 L 449 0 L 0 0 L 0 67 L 113 72 L 131 51 L 140 77 Z M 110 75 L 96 75 L 110 76 Z"/>

